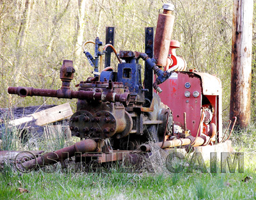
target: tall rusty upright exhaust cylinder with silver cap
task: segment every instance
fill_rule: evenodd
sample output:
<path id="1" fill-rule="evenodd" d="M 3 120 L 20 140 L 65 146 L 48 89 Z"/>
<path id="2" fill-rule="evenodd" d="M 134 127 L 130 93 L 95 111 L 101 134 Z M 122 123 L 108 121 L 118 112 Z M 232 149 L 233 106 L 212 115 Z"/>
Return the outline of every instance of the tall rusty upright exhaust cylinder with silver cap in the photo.
<path id="1" fill-rule="evenodd" d="M 172 5 L 172 4 L 170 4 Z M 164 4 L 163 13 L 160 13 L 157 20 L 156 36 L 154 40 L 154 58 L 158 66 L 166 66 L 170 42 L 172 38 L 173 24 L 175 17 L 172 15 L 173 5 Z"/>

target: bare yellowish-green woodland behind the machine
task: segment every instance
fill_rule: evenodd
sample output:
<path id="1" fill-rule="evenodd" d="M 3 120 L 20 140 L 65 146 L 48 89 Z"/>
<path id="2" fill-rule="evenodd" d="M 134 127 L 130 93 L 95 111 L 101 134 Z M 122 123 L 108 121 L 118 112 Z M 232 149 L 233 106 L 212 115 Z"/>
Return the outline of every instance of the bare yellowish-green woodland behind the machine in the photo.
<path id="1" fill-rule="evenodd" d="M 145 27 L 156 27 L 159 10 L 167 1 L 156 0 L 0 0 L 0 108 L 76 100 L 8 95 L 8 86 L 59 89 L 63 59 L 76 69 L 72 89 L 92 75 L 81 45 L 115 26 L 115 49 L 144 52 Z M 229 116 L 232 0 L 173 0 L 174 40 L 188 68 L 217 75 L 223 86 L 223 117 Z M 256 120 L 256 4 L 253 3 L 252 122 Z M 93 54 L 93 45 L 88 45 Z M 112 66 L 117 60 L 112 56 Z M 143 62 L 141 61 L 143 65 Z"/>

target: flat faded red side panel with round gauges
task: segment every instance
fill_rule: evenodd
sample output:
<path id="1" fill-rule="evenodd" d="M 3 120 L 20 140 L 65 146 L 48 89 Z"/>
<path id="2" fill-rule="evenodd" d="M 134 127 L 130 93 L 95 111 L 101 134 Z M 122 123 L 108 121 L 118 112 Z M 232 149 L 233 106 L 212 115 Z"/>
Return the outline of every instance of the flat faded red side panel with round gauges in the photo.
<path id="1" fill-rule="evenodd" d="M 187 128 L 191 135 L 196 137 L 202 107 L 202 83 L 198 76 L 193 73 L 175 72 L 160 88 L 163 92 L 159 94 L 161 101 L 170 107 L 173 112 L 173 121 L 184 128 L 184 112 L 186 112 Z M 191 84 L 190 88 L 185 88 L 186 82 Z M 190 92 L 186 97 L 184 93 Z M 198 91 L 199 96 L 194 97 L 193 92 Z M 200 132 L 198 136 L 200 135 Z"/>

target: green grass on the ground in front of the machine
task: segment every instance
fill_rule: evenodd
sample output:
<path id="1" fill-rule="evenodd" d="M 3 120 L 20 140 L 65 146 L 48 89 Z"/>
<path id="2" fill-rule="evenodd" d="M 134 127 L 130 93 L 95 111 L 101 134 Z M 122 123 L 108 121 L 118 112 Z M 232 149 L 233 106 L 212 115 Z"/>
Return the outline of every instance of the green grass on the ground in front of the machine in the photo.
<path id="1" fill-rule="evenodd" d="M 236 173 L 202 173 L 200 170 L 193 173 L 163 173 L 163 170 L 118 173 L 123 169 L 120 165 L 110 172 L 100 169 L 98 173 L 72 170 L 65 173 L 60 165 L 54 173 L 42 170 L 20 173 L 4 165 L 0 173 L 0 199 L 256 199 L 255 132 L 252 126 L 246 132 L 236 132 L 232 136 L 236 151 L 244 152 L 244 173 L 238 173 L 238 169 Z M 20 145 L 15 136 L 11 136 L 8 139 L 14 141 L 12 147 L 20 150 L 32 148 Z M 56 144 L 51 143 L 52 148 L 69 145 L 63 143 L 61 135 L 51 140 L 54 141 Z M 4 142 L 2 146 L 8 144 Z M 39 148 L 49 149 L 46 144 L 49 141 L 43 140 Z M 9 144 L 6 146 L 10 148 Z M 209 163 L 206 165 L 209 169 Z M 252 179 L 243 182 L 246 176 Z M 29 193 L 20 193 L 19 188 L 26 188 Z"/>

